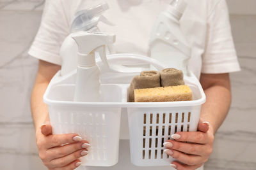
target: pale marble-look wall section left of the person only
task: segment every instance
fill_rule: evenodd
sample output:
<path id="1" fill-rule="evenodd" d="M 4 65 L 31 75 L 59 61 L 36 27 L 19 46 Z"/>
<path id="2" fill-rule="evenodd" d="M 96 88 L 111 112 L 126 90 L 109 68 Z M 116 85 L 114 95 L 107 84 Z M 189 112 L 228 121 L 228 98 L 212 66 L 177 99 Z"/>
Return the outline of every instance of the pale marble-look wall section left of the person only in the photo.
<path id="1" fill-rule="evenodd" d="M 42 12 L 11 5 L 0 1 L 0 169 L 40 170 L 45 167 L 37 156 L 29 107 L 38 61 L 27 50 Z"/>

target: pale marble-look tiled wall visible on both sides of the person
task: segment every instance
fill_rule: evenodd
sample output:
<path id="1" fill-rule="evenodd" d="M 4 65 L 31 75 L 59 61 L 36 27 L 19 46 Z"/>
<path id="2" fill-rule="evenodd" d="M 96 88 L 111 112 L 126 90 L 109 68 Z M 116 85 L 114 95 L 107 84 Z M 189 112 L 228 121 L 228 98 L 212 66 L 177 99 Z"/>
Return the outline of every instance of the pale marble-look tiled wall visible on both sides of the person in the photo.
<path id="1" fill-rule="evenodd" d="M 3 170 L 45 169 L 37 156 L 29 110 L 37 60 L 27 54 L 40 24 L 42 2 L 0 0 L 0 169 Z M 236 11 L 234 6 L 231 8 Z M 216 134 L 214 152 L 205 164 L 207 170 L 256 169 L 256 15 L 232 14 L 230 19 L 242 71 L 231 74 L 232 108 Z"/>

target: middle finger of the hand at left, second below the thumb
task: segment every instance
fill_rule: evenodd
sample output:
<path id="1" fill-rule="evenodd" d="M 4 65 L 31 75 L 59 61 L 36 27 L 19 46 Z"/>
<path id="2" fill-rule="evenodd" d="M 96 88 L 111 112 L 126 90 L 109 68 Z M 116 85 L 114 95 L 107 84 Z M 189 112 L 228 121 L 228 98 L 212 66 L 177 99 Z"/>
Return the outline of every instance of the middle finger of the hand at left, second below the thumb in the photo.
<path id="1" fill-rule="evenodd" d="M 80 141 L 76 143 L 69 143 L 64 146 L 57 146 L 47 150 L 49 153 L 49 160 L 65 157 L 70 153 L 76 152 L 77 150 L 89 148 L 91 145 L 88 141 Z"/>

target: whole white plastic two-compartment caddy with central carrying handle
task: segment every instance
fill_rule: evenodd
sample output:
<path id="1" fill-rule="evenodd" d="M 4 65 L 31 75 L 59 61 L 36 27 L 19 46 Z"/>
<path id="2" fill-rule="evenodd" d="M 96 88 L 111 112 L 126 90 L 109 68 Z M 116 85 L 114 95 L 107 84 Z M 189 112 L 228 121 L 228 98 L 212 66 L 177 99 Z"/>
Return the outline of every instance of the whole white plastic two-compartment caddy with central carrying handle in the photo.
<path id="1" fill-rule="evenodd" d="M 108 62 L 152 64 L 158 70 L 164 68 L 157 60 L 134 54 L 109 55 Z M 92 147 L 82 158 L 83 166 L 113 166 L 118 162 L 121 109 L 127 108 L 132 163 L 136 166 L 168 166 L 172 158 L 163 153 L 163 141 L 175 132 L 196 131 L 200 107 L 205 102 L 204 91 L 195 75 L 184 76 L 185 83 L 193 91 L 193 101 L 127 103 L 127 89 L 132 78 L 149 68 L 126 68 L 132 73 L 109 74 L 100 61 L 97 64 L 102 73 L 102 95 L 97 103 L 73 101 L 76 70 L 67 76 L 60 76 L 58 72 L 52 78 L 44 102 L 49 108 L 53 133 L 74 132 L 89 141 Z"/>

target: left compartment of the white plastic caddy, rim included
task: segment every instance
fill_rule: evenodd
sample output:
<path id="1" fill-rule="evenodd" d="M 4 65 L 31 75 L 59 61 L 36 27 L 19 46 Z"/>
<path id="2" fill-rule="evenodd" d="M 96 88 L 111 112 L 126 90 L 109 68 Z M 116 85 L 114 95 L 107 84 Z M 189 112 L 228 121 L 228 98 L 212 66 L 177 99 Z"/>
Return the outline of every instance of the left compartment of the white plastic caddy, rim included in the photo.
<path id="1" fill-rule="evenodd" d="M 103 85 L 102 96 L 113 93 L 111 101 L 121 102 L 121 89 Z M 86 166 L 112 166 L 118 162 L 121 107 L 74 103 L 74 85 L 52 84 L 46 94 L 53 134 L 77 133 L 89 141 L 89 154 L 82 157 Z M 102 98 L 102 102 L 106 101 Z M 110 102 L 111 102 L 110 101 Z"/>

